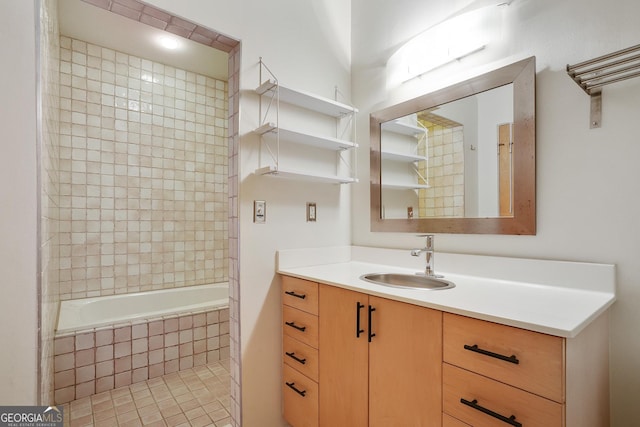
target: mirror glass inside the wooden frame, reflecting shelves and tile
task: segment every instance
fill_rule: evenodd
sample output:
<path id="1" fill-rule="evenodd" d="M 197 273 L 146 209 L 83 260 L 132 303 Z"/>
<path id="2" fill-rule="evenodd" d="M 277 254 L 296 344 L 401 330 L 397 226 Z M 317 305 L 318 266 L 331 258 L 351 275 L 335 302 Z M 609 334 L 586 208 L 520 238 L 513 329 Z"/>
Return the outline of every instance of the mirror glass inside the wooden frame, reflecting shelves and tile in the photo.
<path id="1" fill-rule="evenodd" d="M 513 84 L 381 123 L 383 218 L 513 216 Z"/>

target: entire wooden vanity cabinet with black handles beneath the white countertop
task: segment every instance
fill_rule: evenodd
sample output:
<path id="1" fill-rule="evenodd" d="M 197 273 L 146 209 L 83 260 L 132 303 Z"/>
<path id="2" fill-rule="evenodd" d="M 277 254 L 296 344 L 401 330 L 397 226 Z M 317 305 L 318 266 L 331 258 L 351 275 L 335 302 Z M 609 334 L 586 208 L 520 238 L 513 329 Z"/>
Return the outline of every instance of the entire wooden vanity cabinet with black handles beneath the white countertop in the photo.
<path id="1" fill-rule="evenodd" d="M 562 338 L 282 277 L 294 427 L 608 427 L 605 313 Z"/>

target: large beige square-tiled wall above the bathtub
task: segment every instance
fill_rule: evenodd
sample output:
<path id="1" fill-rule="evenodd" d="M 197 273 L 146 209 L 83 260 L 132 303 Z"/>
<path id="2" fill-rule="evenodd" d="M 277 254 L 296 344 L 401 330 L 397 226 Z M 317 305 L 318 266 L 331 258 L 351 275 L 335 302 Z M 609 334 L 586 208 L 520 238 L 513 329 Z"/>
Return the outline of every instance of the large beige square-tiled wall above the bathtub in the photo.
<path id="1" fill-rule="evenodd" d="M 227 83 L 60 38 L 60 297 L 227 281 Z"/>

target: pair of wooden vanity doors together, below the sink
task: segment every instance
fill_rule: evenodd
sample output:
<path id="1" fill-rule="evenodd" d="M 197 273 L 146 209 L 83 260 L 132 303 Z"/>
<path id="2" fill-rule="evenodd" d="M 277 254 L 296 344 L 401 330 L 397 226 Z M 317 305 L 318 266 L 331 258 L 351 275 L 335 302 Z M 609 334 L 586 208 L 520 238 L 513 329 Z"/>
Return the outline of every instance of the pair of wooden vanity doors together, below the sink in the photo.
<path id="1" fill-rule="evenodd" d="M 321 426 L 442 425 L 442 313 L 320 284 Z"/>

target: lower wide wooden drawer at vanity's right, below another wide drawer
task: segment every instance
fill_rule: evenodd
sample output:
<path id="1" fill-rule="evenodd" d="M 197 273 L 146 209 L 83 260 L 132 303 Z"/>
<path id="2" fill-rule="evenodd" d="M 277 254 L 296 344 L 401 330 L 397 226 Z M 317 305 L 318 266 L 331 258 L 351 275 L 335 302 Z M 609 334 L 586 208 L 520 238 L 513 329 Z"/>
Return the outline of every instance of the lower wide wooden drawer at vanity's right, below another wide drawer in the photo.
<path id="1" fill-rule="evenodd" d="M 564 405 L 560 403 L 446 363 L 443 374 L 444 412 L 469 425 L 564 425 Z M 515 417 L 511 423 L 510 417 Z"/>

